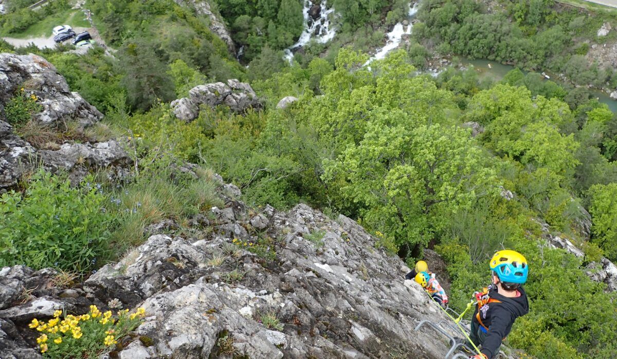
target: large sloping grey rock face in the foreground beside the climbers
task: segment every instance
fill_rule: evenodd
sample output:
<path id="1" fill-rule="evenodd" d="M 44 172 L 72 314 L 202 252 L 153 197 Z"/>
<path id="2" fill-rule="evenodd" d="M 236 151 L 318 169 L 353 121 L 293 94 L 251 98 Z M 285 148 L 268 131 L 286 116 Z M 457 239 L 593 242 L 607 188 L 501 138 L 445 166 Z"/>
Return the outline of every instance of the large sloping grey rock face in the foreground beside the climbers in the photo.
<path id="1" fill-rule="evenodd" d="M 152 345 L 122 341 L 120 358 L 223 357 L 223 335 L 250 358 L 444 357 L 445 337 L 414 328 L 447 318 L 354 220 L 304 204 L 254 210 L 233 198 L 233 185 L 221 182 L 220 191 L 225 207 L 192 221 L 201 238 L 153 235 L 70 288 L 50 284 L 51 269 L 3 268 L 0 357 L 38 357 L 27 321 L 60 307 L 85 313 L 91 304 L 146 309 L 135 337 Z M 22 287 L 36 289 L 19 304 Z M 263 323 L 267 313 L 278 328 Z"/>

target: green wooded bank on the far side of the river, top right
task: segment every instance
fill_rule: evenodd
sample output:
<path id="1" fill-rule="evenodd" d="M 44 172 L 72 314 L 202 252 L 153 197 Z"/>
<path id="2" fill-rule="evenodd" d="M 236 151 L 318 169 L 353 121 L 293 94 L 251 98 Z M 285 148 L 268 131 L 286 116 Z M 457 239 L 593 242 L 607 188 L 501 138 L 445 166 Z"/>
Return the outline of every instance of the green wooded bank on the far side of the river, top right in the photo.
<path id="1" fill-rule="evenodd" d="M 413 37 L 437 52 L 489 58 L 528 70 L 563 73 L 578 85 L 617 86 L 613 67 L 600 67 L 585 55 L 610 10 L 589 14 L 553 0 L 497 1 L 489 10 L 474 0 L 423 1 Z M 615 39 L 609 33 L 600 41 Z M 601 42 L 600 42 L 601 43 Z"/>

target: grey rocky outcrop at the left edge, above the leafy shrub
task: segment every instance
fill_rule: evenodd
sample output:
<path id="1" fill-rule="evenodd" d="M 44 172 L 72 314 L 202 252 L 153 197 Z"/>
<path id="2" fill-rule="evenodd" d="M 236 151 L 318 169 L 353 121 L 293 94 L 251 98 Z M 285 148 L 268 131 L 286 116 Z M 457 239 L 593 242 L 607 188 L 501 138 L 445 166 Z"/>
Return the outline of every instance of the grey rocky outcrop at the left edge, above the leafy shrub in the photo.
<path id="1" fill-rule="evenodd" d="M 131 160 L 115 140 L 66 142 L 55 150 L 46 150 L 35 148 L 15 134 L 4 105 L 18 93 L 37 99 L 42 110 L 33 116 L 33 121 L 41 126 L 75 122 L 83 131 L 103 116 L 77 92 L 71 92 L 64 77 L 44 58 L 0 54 L 0 193 L 14 187 L 22 174 L 41 164 L 52 172 L 67 171 L 75 180 L 94 168 L 107 167 L 117 175 L 125 172 Z"/>

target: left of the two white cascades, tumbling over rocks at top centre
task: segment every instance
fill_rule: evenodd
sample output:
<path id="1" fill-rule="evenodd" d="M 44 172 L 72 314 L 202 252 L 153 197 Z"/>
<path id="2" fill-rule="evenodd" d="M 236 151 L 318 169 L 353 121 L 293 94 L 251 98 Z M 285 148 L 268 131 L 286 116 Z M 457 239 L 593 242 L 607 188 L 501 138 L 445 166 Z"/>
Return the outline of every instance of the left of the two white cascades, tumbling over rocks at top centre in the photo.
<path id="1" fill-rule="evenodd" d="M 336 30 L 331 26 L 330 21 L 330 14 L 334 12 L 334 9 L 328 9 L 326 2 L 326 0 L 321 0 L 321 4 L 317 6 L 313 5 L 310 0 L 304 0 L 304 8 L 302 9 L 304 31 L 302 31 L 300 38 L 295 44 L 285 49 L 285 58 L 290 64 L 294 59 L 294 50 L 308 44 L 313 36 L 317 42 L 324 44 L 336 35 Z"/>

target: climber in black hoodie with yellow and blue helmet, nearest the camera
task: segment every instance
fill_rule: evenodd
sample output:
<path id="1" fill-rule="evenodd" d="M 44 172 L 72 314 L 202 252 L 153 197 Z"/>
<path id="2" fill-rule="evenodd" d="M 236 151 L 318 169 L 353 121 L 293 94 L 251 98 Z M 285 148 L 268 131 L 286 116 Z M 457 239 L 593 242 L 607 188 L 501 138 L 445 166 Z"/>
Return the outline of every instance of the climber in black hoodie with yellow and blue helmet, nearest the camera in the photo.
<path id="1" fill-rule="evenodd" d="M 471 320 L 470 339 L 480 353 L 474 359 L 499 356 L 502 340 L 510 333 L 516 318 L 529 312 L 527 295 L 521 284 L 527 281 L 527 260 L 518 252 L 504 250 L 491 259 L 493 283 L 476 292 L 478 305 Z M 471 347 L 467 343 L 468 347 Z"/>

